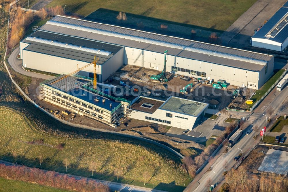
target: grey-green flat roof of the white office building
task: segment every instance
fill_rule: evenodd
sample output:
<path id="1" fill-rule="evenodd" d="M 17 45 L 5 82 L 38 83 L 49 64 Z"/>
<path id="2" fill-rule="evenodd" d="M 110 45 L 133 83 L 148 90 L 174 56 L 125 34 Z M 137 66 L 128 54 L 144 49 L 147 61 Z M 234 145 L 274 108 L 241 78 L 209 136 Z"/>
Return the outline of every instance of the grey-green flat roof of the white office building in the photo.
<path id="1" fill-rule="evenodd" d="M 198 101 L 171 96 L 165 101 L 165 103 L 160 107 L 160 109 L 197 117 L 204 111 L 205 108 L 208 107 L 208 105 L 208 103 L 202 103 Z"/>

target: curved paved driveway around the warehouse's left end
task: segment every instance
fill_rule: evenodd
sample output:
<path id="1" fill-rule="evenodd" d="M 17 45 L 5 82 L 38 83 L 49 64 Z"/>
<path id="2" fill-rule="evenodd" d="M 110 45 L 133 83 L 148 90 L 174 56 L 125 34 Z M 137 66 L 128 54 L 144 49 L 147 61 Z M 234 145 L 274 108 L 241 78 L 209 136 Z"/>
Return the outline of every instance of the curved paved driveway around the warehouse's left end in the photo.
<path id="1" fill-rule="evenodd" d="M 24 70 L 22 68 L 23 60 L 17 58 L 19 52 L 20 52 L 20 48 L 18 47 L 18 48 L 13 50 L 13 52 L 10 55 L 10 57 L 8 58 L 8 63 L 14 69 L 14 71 L 16 71 L 16 72 L 18 72 L 18 73 L 20 73 L 22 75 L 35 77 L 35 78 L 40 78 L 40 79 L 45 79 L 45 80 L 50 80 L 50 79 L 54 79 L 55 78 L 54 76 L 44 75 L 44 74 L 34 73 L 34 72 L 30 72 L 30 71 Z"/>

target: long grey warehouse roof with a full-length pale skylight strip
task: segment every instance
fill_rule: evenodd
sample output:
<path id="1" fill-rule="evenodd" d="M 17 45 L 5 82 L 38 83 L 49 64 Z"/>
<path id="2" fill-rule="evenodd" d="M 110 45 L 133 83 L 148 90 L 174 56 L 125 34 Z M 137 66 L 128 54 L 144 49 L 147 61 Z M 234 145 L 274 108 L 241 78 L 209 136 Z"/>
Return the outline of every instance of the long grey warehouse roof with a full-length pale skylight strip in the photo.
<path id="1" fill-rule="evenodd" d="M 273 56 L 235 48 L 228 48 L 189 39 L 171 37 L 128 29 L 108 24 L 91 22 L 67 16 L 55 16 L 38 31 L 96 40 L 120 46 L 127 46 L 176 57 L 206 61 L 230 67 L 260 71 Z"/>

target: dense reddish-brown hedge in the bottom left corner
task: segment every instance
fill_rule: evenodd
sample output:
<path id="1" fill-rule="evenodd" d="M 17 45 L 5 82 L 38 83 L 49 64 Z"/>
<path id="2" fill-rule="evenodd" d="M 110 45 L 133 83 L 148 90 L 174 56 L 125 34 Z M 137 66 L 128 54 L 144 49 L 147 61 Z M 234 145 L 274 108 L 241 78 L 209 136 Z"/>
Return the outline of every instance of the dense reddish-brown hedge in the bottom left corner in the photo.
<path id="1" fill-rule="evenodd" d="M 35 182 L 39 185 L 57 187 L 61 189 L 86 191 L 86 192 L 109 192 L 109 187 L 91 179 L 77 180 L 74 177 L 57 174 L 54 171 L 44 171 L 26 166 L 8 166 L 0 164 L 0 176 L 13 180 Z"/>

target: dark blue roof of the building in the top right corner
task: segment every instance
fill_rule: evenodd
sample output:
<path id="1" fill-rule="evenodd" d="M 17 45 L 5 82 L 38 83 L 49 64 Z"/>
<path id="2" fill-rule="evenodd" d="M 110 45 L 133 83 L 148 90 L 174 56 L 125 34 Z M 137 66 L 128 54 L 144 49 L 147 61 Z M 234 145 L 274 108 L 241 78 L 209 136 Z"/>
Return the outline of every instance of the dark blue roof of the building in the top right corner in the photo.
<path id="1" fill-rule="evenodd" d="M 252 38 L 260 38 L 260 39 L 269 39 L 271 41 L 275 41 L 278 43 L 283 43 L 288 38 L 288 22 L 286 25 L 283 26 L 281 23 L 281 20 L 284 19 L 285 15 L 288 14 L 288 2 L 283 5 L 269 20 L 268 22 L 263 25 L 255 35 L 252 36 Z M 278 24 L 280 24 L 278 27 Z M 277 27 L 276 32 L 271 33 L 272 36 L 267 35 L 270 31 L 273 31 L 274 28 Z M 278 29 L 279 28 L 279 29 Z"/>

